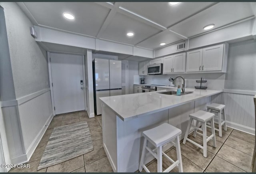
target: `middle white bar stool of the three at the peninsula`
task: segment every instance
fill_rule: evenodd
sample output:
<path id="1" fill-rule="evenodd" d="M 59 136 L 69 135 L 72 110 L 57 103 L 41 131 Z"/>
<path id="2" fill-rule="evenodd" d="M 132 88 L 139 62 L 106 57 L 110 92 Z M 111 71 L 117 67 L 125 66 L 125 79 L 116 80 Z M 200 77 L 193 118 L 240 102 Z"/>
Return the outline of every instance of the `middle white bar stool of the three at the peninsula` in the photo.
<path id="1" fill-rule="evenodd" d="M 206 112 L 206 111 L 197 111 L 193 114 L 190 114 L 189 117 L 190 117 L 190 119 L 188 121 L 188 127 L 186 130 L 185 137 L 183 139 L 183 144 L 186 144 L 186 140 L 188 140 L 192 144 L 202 148 L 204 150 L 204 157 L 207 158 L 207 142 L 212 139 L 213 146 L 216 147 L 216 138 L 215 138 L 214 120 L 213 120 L 214 114 Z M 192 124 L 193 120 L 196 120 L 196 126 L 194 126 Z M 206 136 L 206 123 L 208 121 L 211 122 L 211 127 L 212 127 L 212 134 L 209 137 Z M 199 122 L 202 123 L 202 129 L 199 128 L 199 126 L 198 126 Z M 192 130 L 194 131 L 194 134 L 193 134 L 194 137 L 196 137 L 196 134 L 200 134 L 203 136 L 203 146 L 201 146 L 200 144 L 198 144 L 188 138 L 188 134 L 190 132 L 190 127 L 193 127 Z M 197 132 L 197 130 L 201 130 L 203 132 L 203 134 Z"/>

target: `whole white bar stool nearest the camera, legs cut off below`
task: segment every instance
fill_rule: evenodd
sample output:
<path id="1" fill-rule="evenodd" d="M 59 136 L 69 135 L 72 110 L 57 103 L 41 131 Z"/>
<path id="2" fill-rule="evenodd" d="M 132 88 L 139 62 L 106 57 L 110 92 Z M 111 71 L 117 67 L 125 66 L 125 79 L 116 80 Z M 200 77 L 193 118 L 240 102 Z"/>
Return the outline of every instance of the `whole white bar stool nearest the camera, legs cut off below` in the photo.
<path id="1" fill-rule="evenodd" d="M 150 172 L 146 167 L 146 165 L 144 164 L 146 150 L 148 150 L 148 152 L 150 152 L 157 159 L 157 172 L 162 172 L 162 155 L 164 155 L 168 160 L 170 160 L 173 163 L 166 170 L 164 170 L 164 172 L 170 172 L 176 166 L 178 166 L 179 172 L 183 172 L 181 152 L 180 152 L 180 138 L 179 138 L 180 134 L 181 134 L 180 129 L 172 125 L 169 125 L 168 123 L 164 123 L 152 129 L 143 131 L 142 135 L 144 136 L 145 139 L 144 139 L 144 144 L 142 148 L 139 171 L 141 172 L 142 169 L 144 168 L 146 172 Z M 152 150 L 147 146 L 148 141 L 156 147 L 154 150 Z M 176 161 L 172 160 L 172 158 L 170 158 L 168 155 L 166 155 L 162 151 L 162 146 L 164 146 L 167 143 L 170 143 L 176 147 L 176 151 L 177 151 Z M 155 153 L 155 151 L 157 151 L 157 153 Z"/>

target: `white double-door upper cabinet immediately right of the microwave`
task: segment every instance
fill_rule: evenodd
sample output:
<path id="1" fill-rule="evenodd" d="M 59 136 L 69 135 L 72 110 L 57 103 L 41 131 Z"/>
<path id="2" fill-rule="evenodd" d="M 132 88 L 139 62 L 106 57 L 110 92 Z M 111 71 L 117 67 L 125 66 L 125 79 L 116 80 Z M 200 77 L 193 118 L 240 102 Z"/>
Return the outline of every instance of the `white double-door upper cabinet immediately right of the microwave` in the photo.
<path id="1" fill-rule="evenodd" d="M 185 72 L 186 53 L 164 57 L 163 74 Z"/>

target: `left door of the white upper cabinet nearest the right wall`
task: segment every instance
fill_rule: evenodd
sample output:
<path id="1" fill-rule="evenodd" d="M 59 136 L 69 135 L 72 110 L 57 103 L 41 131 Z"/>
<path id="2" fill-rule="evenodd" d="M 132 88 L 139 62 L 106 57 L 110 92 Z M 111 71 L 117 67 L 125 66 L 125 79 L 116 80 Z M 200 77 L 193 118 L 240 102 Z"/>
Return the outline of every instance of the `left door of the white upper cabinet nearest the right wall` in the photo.
<path id="1" fill-rule="evenodd" d="M 187 52 L 187 72 L 195 72 L 202 70 L 202 53 L 203 49 L 197 49 L 194 51 Z"/>

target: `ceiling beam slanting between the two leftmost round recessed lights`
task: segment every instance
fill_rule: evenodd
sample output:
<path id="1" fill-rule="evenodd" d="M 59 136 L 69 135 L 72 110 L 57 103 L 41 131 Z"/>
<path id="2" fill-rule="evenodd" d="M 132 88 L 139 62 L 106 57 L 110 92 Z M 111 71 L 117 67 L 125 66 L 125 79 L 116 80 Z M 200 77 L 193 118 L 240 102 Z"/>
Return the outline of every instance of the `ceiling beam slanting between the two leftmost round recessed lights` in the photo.
<path id="1" fill-rule="evenodd" d="M 109 3 L 105 3 L 105 4 L 109 4 Z M 122 2 L 116 2 L 114 4 L 114 6 L 112 6 L 110 12 L 108 13 L 108 16 L 106 17 L 106 19 L 104 20 L 100 31 L 98 32 L 96 38 L 100 38 L 103 34 L 103 32 L 106 30 L 106 28 L 108 27 L 108 25 L 110 24 L 110 22 L 113 20 L 114 16 L 116 15 L 117 9 L 119 8 L 119 6 L 122 4 Z"/>

